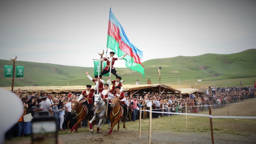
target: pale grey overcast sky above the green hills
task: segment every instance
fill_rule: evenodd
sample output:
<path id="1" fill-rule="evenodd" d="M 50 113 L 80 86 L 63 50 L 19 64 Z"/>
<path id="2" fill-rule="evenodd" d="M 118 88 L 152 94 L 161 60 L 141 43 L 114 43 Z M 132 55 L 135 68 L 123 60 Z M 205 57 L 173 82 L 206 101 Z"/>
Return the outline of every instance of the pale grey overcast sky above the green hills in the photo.
<path id="1" fill-rule="evenodd" d="M 256 48 L 255 0 L 1 0 L 0 59 L 93 67 L 110 7 L 142 62 Z"/>

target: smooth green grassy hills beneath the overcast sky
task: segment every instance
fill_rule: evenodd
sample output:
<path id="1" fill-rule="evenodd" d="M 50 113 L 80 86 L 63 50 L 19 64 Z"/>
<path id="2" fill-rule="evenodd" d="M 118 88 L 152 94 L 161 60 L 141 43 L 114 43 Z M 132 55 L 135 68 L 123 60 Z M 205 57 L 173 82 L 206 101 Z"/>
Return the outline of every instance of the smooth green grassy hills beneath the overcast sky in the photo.
<path id="1" fill-rule="evenodd" d="M 36 62 L 15 61 L 25 65 L 24 79 L 15 80 L 14 86 L 72 86 L 93 84 L 86 77 L 85 71 L 93 75 L 94 68 L 63 66 Z M 0 60 L 2 64 L 12 64 L 11 60 Z M 200 56 L 177 56 L 158 58 L 142 63 L 145 77 L 129 68 L 116 68 L 124 84 L 159 84 L 157 66 L 160 71 L 161 84 L 215 84 L 216 86 L 252 86 L 256 79 L 256 49 L 235 54 L 203 54 Z M 4 78 L 3 65 L 0 66 L 0 87 L 11 86 L 12 80 Z M 200 79 L 202 82 L 198 82 Z M 107 78 L 103 78 L 107 81 Z M 112 79 L 113 80 L 113 79 Z"/>

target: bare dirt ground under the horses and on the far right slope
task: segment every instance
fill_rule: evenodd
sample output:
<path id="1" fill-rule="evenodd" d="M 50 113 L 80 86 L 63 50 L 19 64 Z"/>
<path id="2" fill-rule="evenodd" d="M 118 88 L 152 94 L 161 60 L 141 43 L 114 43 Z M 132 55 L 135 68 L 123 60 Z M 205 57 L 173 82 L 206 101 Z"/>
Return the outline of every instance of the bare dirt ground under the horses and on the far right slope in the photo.
<path id="1" fill-rule="evenodd" d="M 252 102 L 252 113 L 250 112 L 250 101 Z M 246 103 L 247 102 L 247 103 Z M 222 109 L 216 109 L 212 111 L 213 116 L 250 116 L 251 114 L 256 114 L 256 98 L 240 101 L 238 103 L 243 104 L 230 104 Z M 247 111 L 241 111 L 241 109 L 247 109 Z M 207 114 L 208 112 L 204 112 Z M 202 114 L 202 113 L 200 113 Z M 122 124 L 121 124 L 122 125 Z M 105 136 L 109 130 L 102 129 L 100 133 L 96 133 L 96 128 L 94 129 L 94 134 L 88 132 L 78 132 L 74 134 L 62 134 L 59 135 L 62 144 L 148 144 L 148 131 L 141 132 L 141 138 L 139 139 L 139 131 L 124 130 L 121 129 L 120 132 L 113 131 L 110 136 Z M 251 130 L 250 130 L 251 129 Z M 234 134 L 222 134 L 214 135 L 215 144 L 256 144 L 256 126 L 247 130 L 250 136 L 241 136 Z M 114 128 L 116 130 L 116 126 Z M 211 144 L 211 133 L 195 134 L 195 133 L 179 133 L 174 134 L 170 132 L 154 132 L 152 130 L 151 144 Z M 11 141 L 6 141 L 5 144 L 13 144 Z M 21 143 L 19 143 L 21 144 Z"/>

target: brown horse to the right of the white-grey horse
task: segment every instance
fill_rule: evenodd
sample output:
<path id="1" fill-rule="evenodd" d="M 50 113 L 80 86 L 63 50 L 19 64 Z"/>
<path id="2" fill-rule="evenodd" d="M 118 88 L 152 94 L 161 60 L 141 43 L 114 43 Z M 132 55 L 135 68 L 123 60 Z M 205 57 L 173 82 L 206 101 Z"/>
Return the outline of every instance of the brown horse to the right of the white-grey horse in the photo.
<path id="1" fill-rule="evenodd" d="M 107 136 L 110 136 L 110 134 L 113 131 L 113 128 L 116 125 L 116 123 L 118 123 L 117 130 L 119 130 L 120 118 L 123 118 L 123 122 L 124 122 L 123 128 L 126 129 L 126 127 L 125 127 L 125 118 L 124 118 L 124 109 L 122 108 L 122 106 L 120 106 L 119 98 L 114 98 L 112 100 L 111 107 L 112 107 L 112 110 L 110 112 L 111 127 L 110 127 L 110 130 L 109 130 L 108 134 L 106 134 Z"/>

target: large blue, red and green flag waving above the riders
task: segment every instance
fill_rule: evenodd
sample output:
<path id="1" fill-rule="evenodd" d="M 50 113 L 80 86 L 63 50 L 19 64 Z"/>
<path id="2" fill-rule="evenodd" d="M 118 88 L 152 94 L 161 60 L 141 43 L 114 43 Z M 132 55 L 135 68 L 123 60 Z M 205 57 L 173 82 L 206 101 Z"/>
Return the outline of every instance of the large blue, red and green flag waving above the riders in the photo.
<path id="1" fill-rule="evenodd" d="M 111 8 L 108 21 L 107 48 L 113 50 L 118 57 L 127 53 L 123 58 L 125 66 L 131 70 L 140 72 L 143 74 L 142 76 L 145 76 L 144 66 L 141 64 L 143 53 L 130 43 L 124 29 L 111 11 Z"/>

